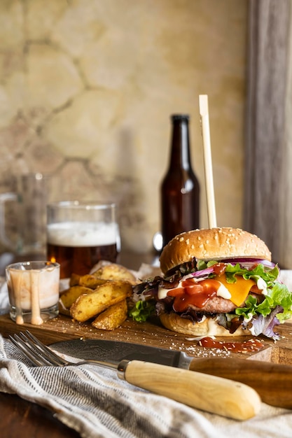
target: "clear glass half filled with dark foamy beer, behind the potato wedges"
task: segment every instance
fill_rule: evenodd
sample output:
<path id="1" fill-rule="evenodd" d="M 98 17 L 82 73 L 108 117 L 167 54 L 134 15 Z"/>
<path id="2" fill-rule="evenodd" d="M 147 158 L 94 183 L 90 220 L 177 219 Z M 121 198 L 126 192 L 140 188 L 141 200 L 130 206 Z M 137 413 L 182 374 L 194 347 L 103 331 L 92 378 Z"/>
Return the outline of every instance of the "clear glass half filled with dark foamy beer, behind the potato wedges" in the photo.
<path id="1" fill-rule="evenodd" d="M 54 202 L 47 206 L 47 258 L 60 278 L 85 275 L 99 260 L 116 262 L 120 232 L 113 202 Z"/>

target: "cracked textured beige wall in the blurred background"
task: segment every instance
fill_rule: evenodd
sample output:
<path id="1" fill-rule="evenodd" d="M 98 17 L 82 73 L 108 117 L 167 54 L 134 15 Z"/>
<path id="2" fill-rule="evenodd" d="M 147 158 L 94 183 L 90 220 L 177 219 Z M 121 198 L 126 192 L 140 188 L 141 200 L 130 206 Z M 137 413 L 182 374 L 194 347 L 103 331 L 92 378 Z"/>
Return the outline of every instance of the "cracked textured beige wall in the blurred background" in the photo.
<path id="1" fill-rule="evenodd" d="M 209 95 L 218 225 L 242 225 L 246 0 L 1 0 L 0 192 L 114 199 L 122 243 L 159 229 L 172 113 L 190 113 L 207 226 L 198 95 Z"/>

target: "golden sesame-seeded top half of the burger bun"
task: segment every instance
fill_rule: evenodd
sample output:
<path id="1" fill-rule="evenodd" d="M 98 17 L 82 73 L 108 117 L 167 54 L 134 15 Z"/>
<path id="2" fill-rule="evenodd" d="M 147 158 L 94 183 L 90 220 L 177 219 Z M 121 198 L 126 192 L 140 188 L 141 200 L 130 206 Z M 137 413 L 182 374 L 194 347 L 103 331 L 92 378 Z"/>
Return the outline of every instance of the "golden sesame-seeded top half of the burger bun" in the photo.
<path id="1" fill-rule="evenodd" d="M 166 274 L 193 257 L 201 260 L 234 257 L 271 260 L 271 253 L 258 236 L 239 228 L 194 229 L 178 234 L 167 243 L 160 255 L 160 269 Z"/>

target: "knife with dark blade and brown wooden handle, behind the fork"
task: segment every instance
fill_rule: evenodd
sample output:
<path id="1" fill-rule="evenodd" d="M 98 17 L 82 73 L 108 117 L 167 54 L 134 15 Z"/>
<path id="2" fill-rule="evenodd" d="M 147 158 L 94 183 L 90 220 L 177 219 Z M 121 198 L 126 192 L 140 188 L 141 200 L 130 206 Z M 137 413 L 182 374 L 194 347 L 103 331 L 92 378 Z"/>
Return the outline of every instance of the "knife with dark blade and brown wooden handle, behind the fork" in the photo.
<path id="1" fill-rule="evenodd" d="M 292 409 L 291 365 L 229 357 L 193 358 L 182 351 L 103 339 L 71 339 L 50 347 L 84 360 L 104 360 L 115 365 L 121 360 L 140 360 L 211 374 L 244 383 L 267 404 Z"/>

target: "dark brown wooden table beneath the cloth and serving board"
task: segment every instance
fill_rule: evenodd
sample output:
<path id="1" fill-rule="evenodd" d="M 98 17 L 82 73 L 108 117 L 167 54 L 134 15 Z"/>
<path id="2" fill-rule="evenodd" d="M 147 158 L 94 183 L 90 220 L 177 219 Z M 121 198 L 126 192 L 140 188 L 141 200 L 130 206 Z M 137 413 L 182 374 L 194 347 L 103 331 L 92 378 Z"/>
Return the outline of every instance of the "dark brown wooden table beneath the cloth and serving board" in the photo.
<path id="1" fill-rule="evenodd" d="M 126 267 L 139 269 L 141 262 L 151 263 L 153 254 L 121 253 L 119 262 Z M 3 273 L 1 273 L 3 275 Z M 0 393 L 1 438 L 76 438 L 80 435 L 67 428 L 48 411 L 27 402 L 18 395 Z"/>

